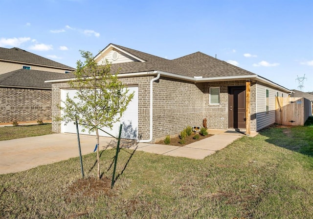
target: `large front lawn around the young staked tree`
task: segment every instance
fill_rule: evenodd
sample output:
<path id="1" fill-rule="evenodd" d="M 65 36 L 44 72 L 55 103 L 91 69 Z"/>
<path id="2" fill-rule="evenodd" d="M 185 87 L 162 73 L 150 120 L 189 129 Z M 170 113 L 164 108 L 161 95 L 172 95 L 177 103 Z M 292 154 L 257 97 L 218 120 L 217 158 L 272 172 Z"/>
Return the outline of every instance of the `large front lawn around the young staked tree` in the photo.
<path id="1" fill-rule="evenodd" d="M 0 175 L 0 218 L 311 219 L 312 130 L 269 128 L 203 160 L 121 150 L 113 194 L 98 198 L 68 193 L 78 158 Z M 101 156 L 109 179 L 114 155 Z M 83 157 L 87 177 L 95 159 Z"/>

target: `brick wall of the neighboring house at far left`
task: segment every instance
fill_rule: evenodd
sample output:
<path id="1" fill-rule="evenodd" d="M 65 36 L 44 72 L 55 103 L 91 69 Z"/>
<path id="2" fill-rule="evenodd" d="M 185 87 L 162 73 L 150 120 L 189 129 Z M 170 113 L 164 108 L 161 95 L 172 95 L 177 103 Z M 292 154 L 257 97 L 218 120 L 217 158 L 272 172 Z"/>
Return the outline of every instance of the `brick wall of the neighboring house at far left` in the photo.
<path id="1" fill-rule="evenodd" d="M 51 120 L 51 90 L 0 88 L 0 123 Z"/>

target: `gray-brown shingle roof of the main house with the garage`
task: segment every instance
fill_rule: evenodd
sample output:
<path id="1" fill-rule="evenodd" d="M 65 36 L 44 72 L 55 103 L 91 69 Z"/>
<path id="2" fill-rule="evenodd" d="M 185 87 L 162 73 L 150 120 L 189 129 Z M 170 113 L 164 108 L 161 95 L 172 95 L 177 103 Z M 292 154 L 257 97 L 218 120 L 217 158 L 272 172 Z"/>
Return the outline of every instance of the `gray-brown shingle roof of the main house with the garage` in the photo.
<path id="1" fill-rule="evenodd" d="M 215 78 L 256 75 L 252 72 L 246 71 L 245 69 L 239 68 L 225 61 L 218 60 L 201 52 L 196 52 L 174 60 L 167 60 L 124 46 L 116 44 L 112 45 L 134 55 L 135 57 L 145 60 L 145 62 L 132 61 L 114 63 L 111 66 L 112 73 L 115 73 L 117 70 L 119 70 L 120 74 L 158 70 L 192 78 L 194 76 L 202 76 L 203 78 Z M 67 74 L 60 79 L 73 77 L 73 74 Z"/>

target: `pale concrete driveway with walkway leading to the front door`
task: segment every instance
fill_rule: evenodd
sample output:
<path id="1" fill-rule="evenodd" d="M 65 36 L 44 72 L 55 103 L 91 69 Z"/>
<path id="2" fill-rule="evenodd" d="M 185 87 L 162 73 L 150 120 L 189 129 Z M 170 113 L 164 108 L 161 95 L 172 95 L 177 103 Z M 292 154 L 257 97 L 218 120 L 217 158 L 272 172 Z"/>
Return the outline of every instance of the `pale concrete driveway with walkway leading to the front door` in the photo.
<path id="1" fill-rule="evenodd" d="M 214 136 L 183 147 L 137 143 L 134 140 L 123 140 L 120 146 L 167 156 L 203 159 L 243 136 L 241 133 L 225 133 L 225 130 L 208 131 Z M 83 155 L 93 153 L 96 144 L 94 136 L 81 135 L 80 142 Z M 100 138 L 101 150 L 113 147 L 116 147 L 116 140 Z M 74 134 L 52 134 L 4 140 L 0 141 L 0 174 L 20 172 L 78 156 L 77 137 Z"/>

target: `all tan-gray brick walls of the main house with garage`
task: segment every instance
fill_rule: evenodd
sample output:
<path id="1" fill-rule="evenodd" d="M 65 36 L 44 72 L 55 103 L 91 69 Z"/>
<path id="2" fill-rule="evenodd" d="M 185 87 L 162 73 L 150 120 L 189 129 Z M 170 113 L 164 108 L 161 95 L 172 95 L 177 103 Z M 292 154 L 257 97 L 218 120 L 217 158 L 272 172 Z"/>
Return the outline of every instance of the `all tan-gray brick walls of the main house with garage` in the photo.
<path id="1" fill-rule="evenodd" d="M 138 86 L 138 135 L 150 135 L 150 80 L 154 76 L 121 78 L 125 85 Z M 161 77 L 153 82 L 153 141 L 166 135 L 177 135 L 186 126 L 202 126 L 207 118 L 208 128 L 228 129 L 228 86 L 246 85 L 245 80 L 194 83 Z M 220 87 L 220 104 L 209 104 L 210 87 Z M 61 88 L 67 82 L 52 83 L 52 118 L 60 116 Z M 251 82 L 251 131 L 256 129 L 255 83 Z M 223 119 L 221 119 L 223 118 Z M 60 132 L 60 122 L 52 121 L 52 131 Z"/>

